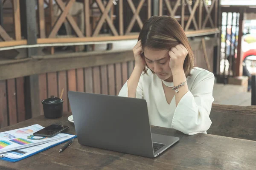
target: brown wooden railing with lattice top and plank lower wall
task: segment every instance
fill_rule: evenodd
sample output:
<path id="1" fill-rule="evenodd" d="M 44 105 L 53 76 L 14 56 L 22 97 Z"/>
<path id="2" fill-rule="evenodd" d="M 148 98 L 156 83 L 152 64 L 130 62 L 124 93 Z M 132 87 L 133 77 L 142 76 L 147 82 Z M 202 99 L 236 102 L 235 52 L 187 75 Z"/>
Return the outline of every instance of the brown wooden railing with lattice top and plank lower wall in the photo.
<path id="1" fill-rule="evenodd" d="M 4 9 L 8 2 L 12 7 L 11 1 L 3 2 Z M 12 2 L 18 8 L 19 0 Z M 16 52 L 16 57 L 7 60 L 2 60 L 5 55 L 0 55 L 0 127 L 42 114 L 41 100 L 50 95 L 59 96 L 62 88 L 65 90 L 64 111 L 70 111 L 67 91 L 117 95 L 134 67 L 131 50 L 64 51 L 65 54 L 53 54 L 57 50 L 54 46 L 89 46 L 137 39 L 143 22 L 152 15 L 175 17 L 187 37 L 191 37 L 189 42 L 195 54 L 195 65 L 207 69 L 204 59 L 207 54 L 210 67 L 213 67 L 213 51 L 218 39 L 210 35 L 218 33 L 216 10 L 219 0 L 212 0 L 211 5 L 207 5 L 207 0 L 118 0 L 115 1 L 116 5 L 113 0 L 96 0 L 98 7 L 92 6 L 92 0 L 69 0 L 67 3 L 62 0 L 38 0 L 37 8 L 33 4 L 34 0 L 22 2 L 26 3 L 20 3 L 17 10 L 26 12 L 16 10 L 15 13 L 13 8 L 8 7 L 13 14 L 20 13 L 21 21 L 15 19 L 15 23 L 9 23 L 10 28 L 15 26 L 15 29 L 6 29 L 9 28 L 6 20 L 4 24 L 1 23 L 3 29 L 0 30 L 0 36 L 8 34 L 13 40 L 3 39 L 0 52 L 6 52 L 8 57 L 10 51 L 16 50 L 18 55 Z M 78 3 L 85 9 L 80 13 L 80 22 L 84 24 L 77 22 L 79 14 L 73 14 L 71 10 Z M 49 8 L 57 8 L 61 12 L 54 14 L 56 10 L 47 11 Z M 3 16 L 6 17 L 6 13 Z M 70 25 L 67 29 L 72 28 L 73 32 L 67 31 L 68 35 L 63 35 L 63 22 L 64 26 Z M 16 39 L 15 35 L 19 38 Z M 205 45 L 202 45 L 201 38 L 193 39 L 206 35 L 210 38 L 205 39 Z M 41 53 L 43 48 L 44 53 Z M 45 49 L 48 51 L 45 52 Z M 79 51 L 79 48 L 75 48 L 75 51 Z"/>

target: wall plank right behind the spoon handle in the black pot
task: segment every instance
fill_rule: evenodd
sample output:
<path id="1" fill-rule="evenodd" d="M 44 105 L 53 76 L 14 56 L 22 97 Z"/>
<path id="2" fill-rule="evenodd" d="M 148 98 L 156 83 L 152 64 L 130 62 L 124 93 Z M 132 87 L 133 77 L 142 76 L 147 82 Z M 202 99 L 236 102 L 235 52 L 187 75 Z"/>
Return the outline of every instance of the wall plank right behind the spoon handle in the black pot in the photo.
<path id="1" fill-rule="evenodd" d="M 63 102 L 63 111 L 68 111 L 68 97 L 67 97 L 67 71 L 58 72 L 58 94 L 61 94 L 62 89 L 64 88 L 64 93 L 62 96 Z"/>

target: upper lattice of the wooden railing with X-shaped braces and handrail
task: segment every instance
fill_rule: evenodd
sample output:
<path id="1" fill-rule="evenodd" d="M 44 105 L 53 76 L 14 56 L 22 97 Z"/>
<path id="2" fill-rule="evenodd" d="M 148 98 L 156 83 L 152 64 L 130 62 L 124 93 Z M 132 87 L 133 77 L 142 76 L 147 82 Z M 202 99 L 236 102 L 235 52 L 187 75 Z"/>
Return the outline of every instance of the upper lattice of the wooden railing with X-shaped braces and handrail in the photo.
<path id="1" fill-rule="evenodd" d="M 21 31 L 23 22 L 20 22 L 20 18 L 22 20 L 24 16 L 20 16 L 20 0 L 12 0 L 15 38 L 0 27 L 0 36 L 3 38 L 0 51 L 137 39 L 143 22 L 152 15 L 176 18 L 188 37 L 218 33 L 219 0 L 159 0 L 157 4 L 152 0 L 138 0 L 136 3 L 132 0 L 64 1 L 38 0 L 35 4 L 36 23 L 33 23 L 38 25 L 37 43 L 28 44 L 25 33 Z M 5 4 L 2 6 L 4 8 Z M 156 8 L 157 12 L 154 11 Z M 58 34 L 62 24 L 66 30 L 73 30 L 73 33 L 67 31 L 65 35 Z"/>

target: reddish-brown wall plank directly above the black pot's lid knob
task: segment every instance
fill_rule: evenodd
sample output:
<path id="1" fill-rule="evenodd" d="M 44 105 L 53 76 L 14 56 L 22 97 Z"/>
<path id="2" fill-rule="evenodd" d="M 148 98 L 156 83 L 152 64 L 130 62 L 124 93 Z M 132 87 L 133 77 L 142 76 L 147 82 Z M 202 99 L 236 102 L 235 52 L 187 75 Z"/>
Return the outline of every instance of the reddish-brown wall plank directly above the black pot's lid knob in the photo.
<path id="1" fill-rule="evenodd" d="M 58 97 L 58 88 L 57 88 L 57 73 L 50 72 L 47 73 L 47 98 L 51 96 Z"/>

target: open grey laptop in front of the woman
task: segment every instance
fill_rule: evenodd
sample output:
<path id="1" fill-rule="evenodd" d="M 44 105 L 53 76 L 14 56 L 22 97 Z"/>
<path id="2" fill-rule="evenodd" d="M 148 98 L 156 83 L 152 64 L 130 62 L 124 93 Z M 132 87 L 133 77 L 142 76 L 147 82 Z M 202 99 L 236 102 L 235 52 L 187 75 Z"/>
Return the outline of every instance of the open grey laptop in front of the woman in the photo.
<path id="1" fill-rule="evenodd" d="M 154 158 L 179 141 L 151 133 L 145 99 L 68 91 L 79 144 Z"/>

